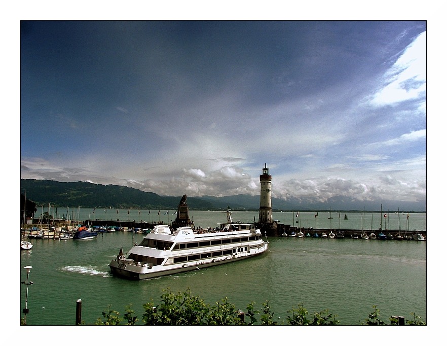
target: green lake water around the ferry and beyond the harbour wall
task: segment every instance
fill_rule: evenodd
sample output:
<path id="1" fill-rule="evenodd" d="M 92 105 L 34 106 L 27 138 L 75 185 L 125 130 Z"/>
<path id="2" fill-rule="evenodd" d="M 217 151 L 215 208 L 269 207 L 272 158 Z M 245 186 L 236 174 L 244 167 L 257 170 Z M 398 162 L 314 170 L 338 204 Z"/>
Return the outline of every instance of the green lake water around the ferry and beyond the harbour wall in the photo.
<path id="1" fill-rule="evenodd" d="M 88 213 L 81 211 L 84 216 Z M 99 215 L 97 211 L 95 214 Z M 329 213 L 319 213 L 320 228 L 326 224 L 329 227 L 330 223 L 332 228 L 339 228 L 338 214 L 331 214 L 334 219 L 327 219 Z M 369 223 L 364 228 L 369 229 L 371 216 L 373 229 L 380 225 L 380 213 L 365 213 L 364 217 L 363 213 L 347 213 L 348 220 L 343 220 L 344 214 L 340 220 L 342 229 L 360 229 L 362 219 Z M 166 222 L 168 215 L 161 221 Z M 232 215 L 234 220 L 257 219 L 256 212 Z M 297 221 L 296 213 L 274 213 L 273 217 L 285 224 Z M 190 211 L 190 218 L 196 226 L 214 227 L 224 222 L 226 215 Z M 388 219 L 390 229 L 398 225 L 397 215 Z M 311 224 L 316 222 L 314 213 L 300 213 L 300 220 L 302 227 L 315 227 Z M 401 229 L 405 228 L 405 220 L 406 214 L 400 215 Z M 409 214 L 408 220 L 410 229 L 425 229 L 425 214 Z M 34 284 L 29 286 L 27 324 L 74 325 L 78 299 L 82 300 L 82 319 L 87 325 L 102 317 L 109 305 L 123 314 L 129 303 L 141 320 L 142 304 L 151 298 L 159 302 L 166 288 L 173 293 L 190 288 L 209 304 L 227 297 L 242 310 L 251 301 L 262 309 L 262 303 L 268 300 L 279 323 L 285 322 L 287 310 L 301 303 L 310 315 L 327 308 L 338 316 L 340 325 L 361 325 L 372 312 L 372 305 L 378 306 L 380 318 L 387 323 L 392 315 L 409 319 L 412 312 L 428 322 L 427 241 L 269 237 L 269 252 L 257 258 L 137 282 L 111 276 L 108 263 L 120 247 L 127 252 L 142 237 L 117 231 L 84 241 L 32 240 L 32 250 L 20 252 L 17 269 L 20 281 L 24 281 L 23 267 L 33 267 L 29 275 Z M 20 285 L 20 311 L 25 307 L 25 291 L 25 285 Z"/>

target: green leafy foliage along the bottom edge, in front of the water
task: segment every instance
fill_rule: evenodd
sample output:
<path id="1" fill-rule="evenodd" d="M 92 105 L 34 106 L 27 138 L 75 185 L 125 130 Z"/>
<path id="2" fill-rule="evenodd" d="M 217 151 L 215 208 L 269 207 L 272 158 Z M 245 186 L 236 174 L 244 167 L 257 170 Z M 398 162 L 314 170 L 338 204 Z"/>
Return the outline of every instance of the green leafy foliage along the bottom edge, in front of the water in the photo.
<path id="1" fill-rule="evenodd" d="M 188 288 L 185 292 L 174 294 L 169 288 L 163 290 L 161 301 L 155 304 L 153 299 L 143 304 L 144 313 L 142 323 L 146 326 L 251 326 L 259 324 L 262 326 L 292 325 L 292 326 L 336 326 L 340 323 L 336 319 L 337 315 L 329 313 L 327 309 L 321 312 L 314 312 L 309 316 L 308 310 L 300 303 L 298 307 L 292 307 L 287 311 L 289 314 L 284 321 L 274 318 L 275 313 L 271 311 L 269 301 L 262 304 L 262 311 L 255 308 L 255 302 L 250 302 L 246 307 L 246 312 L 237 309 L 236 306 L 222 298 L 220 301 L 210 305 L 199 296 L 195 296 Z M 135 325 L 138 322 L 134 316 L 132 304 L 126 306 L 123 318 L 120 313 L 111 309 L 110 305 L 102 317 L 95 322 L 96 325 Z M 381 326 L 386 325 L 379 319 L 380 310 L 376 305 L 372 305 L 374 311 L 368 315 L 364 324 Z M 419 316 L 412 313 L 413 319 L 406 320 L 408 325 L 426 325 Z M 390 325 L 397 325 L 395 318 L 390 318 Z M 281 323 L 279 323 L 281 322 Z"/>

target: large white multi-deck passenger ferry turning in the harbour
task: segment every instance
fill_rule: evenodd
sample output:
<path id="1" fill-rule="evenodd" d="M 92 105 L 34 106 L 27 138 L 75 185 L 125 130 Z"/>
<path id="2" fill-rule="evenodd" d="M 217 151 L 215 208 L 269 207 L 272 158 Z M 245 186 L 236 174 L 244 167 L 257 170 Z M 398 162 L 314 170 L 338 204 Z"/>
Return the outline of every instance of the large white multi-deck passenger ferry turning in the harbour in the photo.
<path id="1" fill-rule="evenodd" d="M 157 225 L 126 256 L 121 248 L 109 267 L 123 278 L 150 279 L 253 257 L 266 252 L 268 244 L 254 223 L 233 222 L 227 211 L 227 223 L 214 230 Z"/>

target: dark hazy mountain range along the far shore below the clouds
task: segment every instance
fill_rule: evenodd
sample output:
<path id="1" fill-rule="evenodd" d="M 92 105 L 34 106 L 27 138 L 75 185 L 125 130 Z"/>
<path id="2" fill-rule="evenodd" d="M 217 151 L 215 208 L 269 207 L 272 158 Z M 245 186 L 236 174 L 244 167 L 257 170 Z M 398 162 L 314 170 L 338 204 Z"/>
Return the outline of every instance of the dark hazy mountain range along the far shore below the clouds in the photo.
<path id="1" fill-rule="evenodd" d="M 21 179 L 20 192 L 36 205 L 54 204 L 59 207 L 111 207 L 119 209 L 175 209 L 181 196 L 160 196 L 120 185 L 100 185 L 89 182 L 57 182 L 53 180 Z M 233 195 L 224 197 L 187 197 L 191 210 L 232 210 L 257 211 L 260 195 Z M 326 202 L 309 202 L 292 198 L 283 200 L 272 197 L 273 211 L 384 211 L 423 212 L 420 203 L 405 202 L 395 205 L 391 201 L 359 202 L 346 197 L 333 197 Z"/>

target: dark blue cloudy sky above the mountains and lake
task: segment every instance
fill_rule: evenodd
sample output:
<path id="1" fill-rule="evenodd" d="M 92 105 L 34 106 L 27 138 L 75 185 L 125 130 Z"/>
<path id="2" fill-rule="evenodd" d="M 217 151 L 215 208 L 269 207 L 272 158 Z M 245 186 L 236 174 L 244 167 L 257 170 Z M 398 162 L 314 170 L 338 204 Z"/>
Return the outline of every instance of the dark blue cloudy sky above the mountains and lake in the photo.
<path id="1" fill-rule="evenodd" d="M 426 21 L 21 21 L 20 178 L 427 198 Z M 423 209 L 421 209 L 423 210 Z"/>

